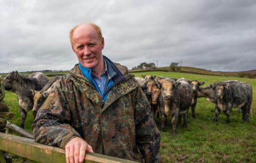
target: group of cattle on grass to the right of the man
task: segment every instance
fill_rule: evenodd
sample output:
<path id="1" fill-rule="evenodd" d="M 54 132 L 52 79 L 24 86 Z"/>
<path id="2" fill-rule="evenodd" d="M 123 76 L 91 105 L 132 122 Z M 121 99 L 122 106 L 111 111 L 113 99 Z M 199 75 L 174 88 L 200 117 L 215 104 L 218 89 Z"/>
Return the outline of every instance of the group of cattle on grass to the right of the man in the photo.
<path id="1" fill-rule="evenodd" d="M 185 78 L 174 79 L 162 76 L 142 75 L 143 78 L 135 79 L 140 83 L 142 90 L 151 105 L 151 113 L 155 117 L 158 111 L 161 114 L 161 129 L 166 126 L 167 116 L 171 116 L 172 134 L 177 133 L 177 126 L 187 127 L 188 109 L 191 107 L 192 117 L 196 118 L 195 107 L 197 98 L 205 97 L 215 104 L 216 122 L 220 111 L 227 116 L 230 123 L 230 113 L 233 107 L 242 110 L 242 119 L 249 121 L 249 113 L 252 104 L 252 87 L 249 83 L 229 80 L 215 82 L 206 87 L 201 87 L 204 82 L 187 80 Z"/>

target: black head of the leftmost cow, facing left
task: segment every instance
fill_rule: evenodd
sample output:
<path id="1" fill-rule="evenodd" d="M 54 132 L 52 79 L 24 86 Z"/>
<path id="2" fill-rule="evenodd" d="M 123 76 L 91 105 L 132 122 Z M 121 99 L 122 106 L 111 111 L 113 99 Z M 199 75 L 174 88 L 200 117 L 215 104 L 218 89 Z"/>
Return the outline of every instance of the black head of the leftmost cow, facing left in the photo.
<path id="1" fill-rule="evenodd" d="M 18 82 L 19 82 L 19 74 L 18 71 L 12 71 L 10 72 L 5 78 L 4 78 L 4 89 L 7 91 L 14 92 Z"/>

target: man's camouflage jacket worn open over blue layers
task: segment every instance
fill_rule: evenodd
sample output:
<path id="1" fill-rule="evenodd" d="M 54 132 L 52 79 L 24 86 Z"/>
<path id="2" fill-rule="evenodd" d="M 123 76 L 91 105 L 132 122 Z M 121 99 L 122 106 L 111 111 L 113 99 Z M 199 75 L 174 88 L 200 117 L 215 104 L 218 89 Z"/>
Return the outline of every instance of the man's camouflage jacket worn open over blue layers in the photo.
<path id="1" fill-rule="evenodd" d="M 78 65 L 52 89 L 33 122 L 35 140 L 65 148 L 81 136 L 95 153 L 134 161 L 158 162 L 160 134 L 150 105 L 127 68 L 125 79 L 109 90 L 106 102 Z"/>

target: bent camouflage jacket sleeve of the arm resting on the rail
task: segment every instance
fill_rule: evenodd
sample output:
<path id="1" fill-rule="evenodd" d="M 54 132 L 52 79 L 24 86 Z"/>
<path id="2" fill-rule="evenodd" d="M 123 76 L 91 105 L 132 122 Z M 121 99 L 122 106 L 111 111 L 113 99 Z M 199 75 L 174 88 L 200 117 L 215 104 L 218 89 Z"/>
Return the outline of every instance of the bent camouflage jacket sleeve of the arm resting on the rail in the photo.
<path id="1" fill-rule="evenodd" d="M 33 122 L 35 140 L 46 145 L 65 148 L 66 143 L 75 136 L 80 136 L 70 122 L 70 107 L 61 89 L 56 85 Z"/>

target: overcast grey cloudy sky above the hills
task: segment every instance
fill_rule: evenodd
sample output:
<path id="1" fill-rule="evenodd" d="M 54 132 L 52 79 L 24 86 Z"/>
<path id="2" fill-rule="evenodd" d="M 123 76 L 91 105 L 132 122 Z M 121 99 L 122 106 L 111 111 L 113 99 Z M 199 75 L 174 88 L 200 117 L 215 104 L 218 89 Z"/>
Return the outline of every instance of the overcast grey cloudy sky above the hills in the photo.
<path id="1" fill-rule="evenodd" d="M 212 71 L 256 69 L 256 1 L 0 0 L 0 73 L 70 70 L 69 31 L 98 24 L 103 55 L 129 68 L 142 62 Z"/>

